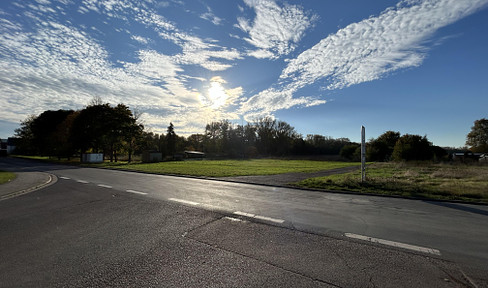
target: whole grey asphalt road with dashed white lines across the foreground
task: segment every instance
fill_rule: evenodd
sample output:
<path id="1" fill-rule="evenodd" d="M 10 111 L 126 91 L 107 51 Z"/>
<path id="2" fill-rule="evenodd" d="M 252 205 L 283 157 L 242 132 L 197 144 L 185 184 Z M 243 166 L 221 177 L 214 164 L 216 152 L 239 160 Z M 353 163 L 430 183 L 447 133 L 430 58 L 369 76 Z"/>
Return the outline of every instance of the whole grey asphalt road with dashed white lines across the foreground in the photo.
<path id="1" fill-rule="evenodd" d="M 0 202 L 2 287 L 488 286 L 484 206 L 5 165 L 58 182 Z"/>

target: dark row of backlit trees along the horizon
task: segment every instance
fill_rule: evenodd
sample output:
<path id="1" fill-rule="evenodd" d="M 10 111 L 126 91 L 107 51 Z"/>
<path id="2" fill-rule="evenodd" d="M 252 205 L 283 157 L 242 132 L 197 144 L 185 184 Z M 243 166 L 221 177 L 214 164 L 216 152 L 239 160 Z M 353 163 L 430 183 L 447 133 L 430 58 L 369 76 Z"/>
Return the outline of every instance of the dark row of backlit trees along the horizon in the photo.
<path id="1" fill-rule="evenodd" d="M 99 98 L 78 111 L 44 111 L 28 117 L 16 129 L 19 138 L 17 153 L 60 158 L 104 153 L 110 161 L 117 161 L 124 155 L 129 162 L 133 155 L 144 151 L 157 151 L 172 158 L 185 150 L 222 158 L 340 155 L 351 161 L 360 160 L 359 143 L 317 134 L 303 137 L 290 124 L 270 117 L 246 125 L 229 120 L 214 121 L 205 126 L 203 133 L 182 137 L 176 134 L 172 123 L 165 134 L 147 131 L 139 122 L 139 116 L 124 104 L 111 106 Z M 476 121 L 467 143 L 476 144 L 473 147 L 480 150 L 488 147 L 486 130 L 488 120 Z M 366 147 L 367 161 L 441 160 L 447 157 L 447 152 L 434 146 L 426 136 L 401 135 L 395 131 L 370 139 Z"/>

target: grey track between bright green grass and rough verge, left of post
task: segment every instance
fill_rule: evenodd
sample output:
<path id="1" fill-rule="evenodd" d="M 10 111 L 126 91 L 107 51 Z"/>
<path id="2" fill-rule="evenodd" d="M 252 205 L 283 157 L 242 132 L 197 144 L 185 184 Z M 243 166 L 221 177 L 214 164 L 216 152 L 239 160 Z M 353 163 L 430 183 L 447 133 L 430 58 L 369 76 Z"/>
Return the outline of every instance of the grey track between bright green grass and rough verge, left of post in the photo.
<path id="1" fill-rule="evenodd" d="M 308 178 L 348 173 L 359 169 L 360 169 L 359 166 L 353 166 L 353 167 L 345 167 L 345 168 L 338 168 L 332 170 L 324 170 L 324 171 L 313 172 L 313 173 L 285 173 L 285 174 L 264 175 L 264 176 L 237 176 L 237 177 L 225 177 L 220 179 L 236 181 L 236 182 L 252 183 L 252 184 L 289 186 L 290 183 L 302 181 Z"/>

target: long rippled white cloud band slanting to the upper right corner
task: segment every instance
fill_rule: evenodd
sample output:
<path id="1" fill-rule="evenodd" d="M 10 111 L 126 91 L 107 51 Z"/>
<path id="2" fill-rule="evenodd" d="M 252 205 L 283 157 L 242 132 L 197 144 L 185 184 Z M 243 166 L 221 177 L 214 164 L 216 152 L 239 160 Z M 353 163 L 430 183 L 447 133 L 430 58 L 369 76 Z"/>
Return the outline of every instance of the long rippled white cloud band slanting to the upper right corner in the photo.
<path id="1" fill-rule="evenodd" d="M 298 88 L 325 78 L 329 89 L 339 89 L 417 67 L 426 57 L 426 41 L 439 28 L 486 4 L 486 0 L 402 1 L 321 40 L 290 61 L 280 78 Z"/>

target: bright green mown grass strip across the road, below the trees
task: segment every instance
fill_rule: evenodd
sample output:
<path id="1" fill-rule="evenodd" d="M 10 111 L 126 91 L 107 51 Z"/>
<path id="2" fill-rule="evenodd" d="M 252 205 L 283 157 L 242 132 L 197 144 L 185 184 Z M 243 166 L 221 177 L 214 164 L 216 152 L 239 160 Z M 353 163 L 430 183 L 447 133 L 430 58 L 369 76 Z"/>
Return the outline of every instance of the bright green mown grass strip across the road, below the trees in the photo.
<path id="1" fill-rule="evenodd" d="M 290 172 L 317 172 L 353 166 L 350 162 L 325 162 L 310 160 L 201 160 L 160 163 L 127 164 L 126 162 L 101 163 L 92 167 L 129 169 L 156 174 L 176 174 L 205 177 L 231 177 L 273 175 Z"/>

